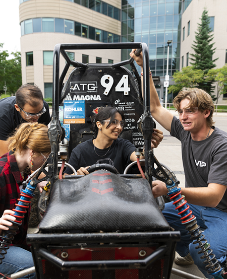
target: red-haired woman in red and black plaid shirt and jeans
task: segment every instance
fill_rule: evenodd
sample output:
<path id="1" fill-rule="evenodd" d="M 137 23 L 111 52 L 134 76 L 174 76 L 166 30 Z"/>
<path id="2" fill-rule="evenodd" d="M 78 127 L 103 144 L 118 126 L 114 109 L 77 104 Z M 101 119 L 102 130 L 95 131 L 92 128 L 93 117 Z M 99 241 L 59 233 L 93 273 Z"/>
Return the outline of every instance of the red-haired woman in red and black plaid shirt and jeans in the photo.
<path id="1" fill-rule="evenodd" d="M 47 131 L 48 128 L 44 124 L 23 123 L 14 135 L 8 138 L 10 152 L 0 158 L 0 234 L 2 230 L 8 231 L 8 226 L 12 226 L 9 221 L 16 220 L 12 216 L 12 209 L 20 197 L 22 182 L 27 178 L 26 171 L 35 171 L 41 167 L 51 151 Z M 25 250 L 28 248 L 25 241 L 28 215 L 26 213 L 14 237 L 14 246 L 10 247 L 3 263 L 0 264 L 0 272 L 3 274 L 12 274 L 34 266 L 31 252 Z M 21 278 L 33 279 L 36 276 L 32 273 Z"/>

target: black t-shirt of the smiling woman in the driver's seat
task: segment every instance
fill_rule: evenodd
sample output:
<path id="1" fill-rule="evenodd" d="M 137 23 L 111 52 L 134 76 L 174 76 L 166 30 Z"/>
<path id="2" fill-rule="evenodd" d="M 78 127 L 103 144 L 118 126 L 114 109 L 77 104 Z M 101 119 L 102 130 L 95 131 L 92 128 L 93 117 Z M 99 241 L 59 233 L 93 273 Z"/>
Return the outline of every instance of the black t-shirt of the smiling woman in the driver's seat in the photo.
<path id="1" fill-rule="evenodd" d="M 77 171 L 80 167 L 87 167 L 96 163 L 112 165 L 113 162 L 113 166 L 121 174 L 123 174 L 125 168 L 131 163 L 130 156 L 135 151 L 135 146 L 128 140 L 118 138 L 117 140 L 113 141 L 109 151 L 108 149 L 109 148 L 95 148 L 96 153 L 100 155 L 98 156 L 94 151 L 94 145 L 91 138 L 90 140 L 79 144 L 73 149 L 69 164 L 72 165 Z M 103 156 L 104 154 L 106 155 Z M 72 174 L 73 171 L 70 167 L 67 167 L 65 173 Z"/>

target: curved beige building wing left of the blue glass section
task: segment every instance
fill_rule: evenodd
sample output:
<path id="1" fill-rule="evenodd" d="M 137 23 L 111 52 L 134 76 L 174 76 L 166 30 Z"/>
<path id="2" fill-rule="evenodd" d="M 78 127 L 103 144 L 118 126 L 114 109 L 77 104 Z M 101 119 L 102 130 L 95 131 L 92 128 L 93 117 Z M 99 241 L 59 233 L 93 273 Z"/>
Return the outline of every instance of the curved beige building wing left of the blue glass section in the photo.
<path id="1" fill-rule="evenodd" d="M 52 57 L 58 43 L 119 42 L 120 0 L 21 0 L 22 83 L 34 83 L 52 97 Z M 70 51 L 84 63 L 121 61 L 121 50 Z M 62 59 L 61 69 L 65 60 Z M 71 72 L 72 69 L 69 69 Z"/>

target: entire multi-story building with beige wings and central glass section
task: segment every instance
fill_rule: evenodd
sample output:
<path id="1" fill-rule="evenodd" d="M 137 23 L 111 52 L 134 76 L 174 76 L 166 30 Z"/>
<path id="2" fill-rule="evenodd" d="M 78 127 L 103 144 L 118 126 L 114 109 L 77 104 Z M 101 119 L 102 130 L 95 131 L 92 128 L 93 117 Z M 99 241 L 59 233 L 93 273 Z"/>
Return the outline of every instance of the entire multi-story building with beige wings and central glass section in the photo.
<path id="1" fill-rule="evenodd" d="M 218 57 L 217 67 L 227 62 L 227 37 L 223 36 L 227 26 L 225 0 L 20 0 L 20 3 L 22 81 L 38 85 L 44 97 L 51 97 L 55 44 L 145 42 L 157 92 L 160 98 L 165 98 L 165 75 L 170 76 L 169 84 L 173 84 L 173 74 L 190 65 L 191 46 L 204 8 L 214 32 L 213 58 Z M 168 73 L 167 41 L 171 41 Z M 69 55 L 84 63 L 112 63 L 128 59 L 129 51 L 77 50 Z M 225 102 L 225 96 L 219 102 Z"/>

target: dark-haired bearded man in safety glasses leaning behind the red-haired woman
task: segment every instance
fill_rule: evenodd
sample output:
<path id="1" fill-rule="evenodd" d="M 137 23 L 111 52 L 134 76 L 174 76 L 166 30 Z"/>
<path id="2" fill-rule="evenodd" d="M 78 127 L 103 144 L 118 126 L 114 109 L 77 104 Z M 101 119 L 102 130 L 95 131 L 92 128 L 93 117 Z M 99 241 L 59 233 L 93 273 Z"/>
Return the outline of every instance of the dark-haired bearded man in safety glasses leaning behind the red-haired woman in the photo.
<path id="1" fill-rule="evenodd" d="M 50 122 L 49 106 L 41 90 L 34 85 L 22 85 L 16 96 L 0 101 L 0 156 L 8 152 L 9 135 L 23 122 Z"/>

